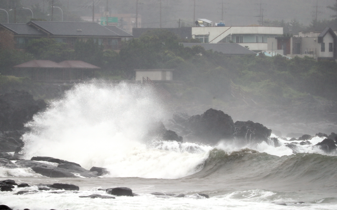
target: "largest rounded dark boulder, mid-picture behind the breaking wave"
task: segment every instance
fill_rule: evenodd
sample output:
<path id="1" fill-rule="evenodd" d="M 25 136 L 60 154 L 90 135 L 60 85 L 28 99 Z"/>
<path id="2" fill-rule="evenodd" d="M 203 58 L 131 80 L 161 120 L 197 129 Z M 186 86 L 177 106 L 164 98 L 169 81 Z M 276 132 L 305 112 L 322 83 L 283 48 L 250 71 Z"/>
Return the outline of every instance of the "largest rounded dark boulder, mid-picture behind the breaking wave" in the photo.
<path id="1" fill-rule="evenodd" d="M 192 132 L 189 135 L 191 138 L 208 140 L 214 144 L 221 139 L 230 139 L 234 131 L 232 117 L 215 109 L 209 109 L 202 115 L 191 116 L 185 125 Z"/>

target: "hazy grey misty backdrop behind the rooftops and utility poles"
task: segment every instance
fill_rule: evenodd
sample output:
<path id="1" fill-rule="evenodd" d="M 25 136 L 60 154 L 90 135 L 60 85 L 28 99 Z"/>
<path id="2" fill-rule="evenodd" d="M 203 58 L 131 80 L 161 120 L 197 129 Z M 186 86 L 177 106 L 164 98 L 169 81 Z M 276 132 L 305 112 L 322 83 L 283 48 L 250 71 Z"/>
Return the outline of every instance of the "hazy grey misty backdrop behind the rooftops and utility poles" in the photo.
<path id="1" fill-rule="evenodd" d="M 14 2 L 16 7 L 20 5 L 31 8 L 35 18 L 47 20 L 49 18 L 48 9 L 50 9 L 50 7 L 48 7 L 48 5 L 51 1 L 1 0 L 0 8 L 6 9 L 13 7 Z M 209 19 L 218 23 L 221 20 L 222 2 L 224 7 L 223 22 L 228 26 L 259 24 L 258 21 L 260 17 L 258 16 L 261 16 L 260 6 L 263 9 L 264 21 L 284 20 L 288 22 L 292 19 L 296 19 L 304 25 L 309 25 L 316 15 L 316 3 L 318 20 L 330 20 L 330 16 L 333 15 L 334 12 L 327 8 L 327 6 L 333 6 L 333 4 L 336 3 L 335 0 L 195 0 L 195 19 Z M 63 8 L 65 14 L 68 11 L 72 16 L 78 17 L 92 15 L 92 3 L 92 0 L 54 1 L 55 6 Z M 138 13 L 142 17 L 142 27 L 159 27 L 160 0 L 139 0 L 138 3 Z M 106 7 L 106 0 L 94 0 L 94 4 L 95 13 L 100 13 Z M 182 20 L 182 26 L 192 26 L 195 21 L 193 20 L 194 0 L 162 0 L 161 7 L 163 28 L 178 27 L 177 21 L 179 19 Z M 111 13 L 135 14 L 136 0 L 108 0 L 108 8 Z M 38 12 L 37 10 L 40 11 Z M 5 22 L 5 14 L 2 13 L 4 12 L 0 12 L 0 21 Z M 30 15 L 29 10 L 17 11 L 17 15 L 21 15 L 20 13 L 22 13 L 22 15 Z M 55 11 L 55 15 L 57 15 L 56 13 L 58 13 L 58 11 Z M 55 17 L 55 19 L 57 19 L 57 17 Z"/>

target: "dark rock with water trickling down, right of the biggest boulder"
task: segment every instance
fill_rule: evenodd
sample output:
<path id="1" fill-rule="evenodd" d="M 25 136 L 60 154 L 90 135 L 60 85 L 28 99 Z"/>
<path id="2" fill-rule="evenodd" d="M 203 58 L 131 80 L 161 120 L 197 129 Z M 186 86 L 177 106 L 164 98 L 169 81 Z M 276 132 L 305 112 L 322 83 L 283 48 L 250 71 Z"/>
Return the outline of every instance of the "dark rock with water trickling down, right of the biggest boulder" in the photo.
<path id="1" fill-rule="evenodd" d="M 233 137 L 244 143 L 268 142 L 272 130 L 253 121 L 236 121 Z"/>

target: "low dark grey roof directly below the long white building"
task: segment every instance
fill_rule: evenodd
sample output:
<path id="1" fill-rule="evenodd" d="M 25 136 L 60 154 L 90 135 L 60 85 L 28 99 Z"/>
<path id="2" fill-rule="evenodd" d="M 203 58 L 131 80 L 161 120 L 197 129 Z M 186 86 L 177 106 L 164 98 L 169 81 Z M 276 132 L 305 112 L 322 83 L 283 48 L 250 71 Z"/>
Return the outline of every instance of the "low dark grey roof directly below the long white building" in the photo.
<path id="1" fill-rule="evenodd" d="M 247 49 L 236 43 L 182 43 L 184 47 L 192 47 L 194 45 L 203 46 L 206 50 L 213 50 L 222 52 L 227 55 L 247 55 L 247 54 L 256 54 L 255 52 Z"/>

